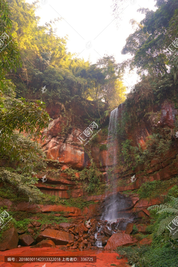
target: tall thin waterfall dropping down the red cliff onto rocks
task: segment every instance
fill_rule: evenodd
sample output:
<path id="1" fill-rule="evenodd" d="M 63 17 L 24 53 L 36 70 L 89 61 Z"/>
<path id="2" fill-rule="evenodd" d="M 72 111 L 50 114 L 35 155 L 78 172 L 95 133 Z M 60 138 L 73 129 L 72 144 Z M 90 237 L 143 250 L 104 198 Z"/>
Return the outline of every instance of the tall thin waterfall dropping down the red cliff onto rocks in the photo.
<path id="1" fill-rule="evenodd" d="M 125 196 L 117 193 L 118 118 L 119 110 L 116 108 L 111 112 L 107 139 L 107 183 L 112 189 L 112 193 L 108 191 L 106 194 L 104 212 L 97 225 L 97 233 L 95 233 L 97 247 L 102 247 L 102 240 L 105 235 L 108 237 L 113 233 L 125 230 L 128 222 L 133 220 L 132 214 L 128 215 L 125 212 L 131 206 L 130 200 L 126 200 Z"/>

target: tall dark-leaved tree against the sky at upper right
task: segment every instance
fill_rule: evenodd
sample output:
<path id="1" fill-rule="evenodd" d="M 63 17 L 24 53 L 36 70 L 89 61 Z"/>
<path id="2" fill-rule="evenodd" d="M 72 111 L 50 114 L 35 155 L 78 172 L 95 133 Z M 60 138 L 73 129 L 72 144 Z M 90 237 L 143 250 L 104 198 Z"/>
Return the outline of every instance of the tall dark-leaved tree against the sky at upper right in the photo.
<path id="1" fill-rule="evenodd" d="M 122 53 L 133 55 L 131 63 L 128 62 L 131 69 L 137 67 L 142 72 L 165 75 L 168 73 L 165 34 L 178 3 L 175 0 L 159 0 L 155 6 L 158 7 L 155 12 L 139 9 L 145 18 L 137 23 L 136 31 L 127 38 Z M 136 24 L 133 20 L 131 22 Z"/>

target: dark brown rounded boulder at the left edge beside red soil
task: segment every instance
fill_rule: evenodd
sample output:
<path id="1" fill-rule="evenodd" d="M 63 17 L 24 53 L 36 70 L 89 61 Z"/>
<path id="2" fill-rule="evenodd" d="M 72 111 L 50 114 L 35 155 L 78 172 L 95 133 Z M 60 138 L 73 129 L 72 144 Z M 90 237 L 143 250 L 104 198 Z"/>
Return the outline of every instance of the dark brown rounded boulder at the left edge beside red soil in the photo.
<path id="1" fill-rule="evenodd" d="M 17 230 L 12 227 L 5 231 L 1 237 L 0 250 L 14 249 L 18 245 L 18 233 Z"/>

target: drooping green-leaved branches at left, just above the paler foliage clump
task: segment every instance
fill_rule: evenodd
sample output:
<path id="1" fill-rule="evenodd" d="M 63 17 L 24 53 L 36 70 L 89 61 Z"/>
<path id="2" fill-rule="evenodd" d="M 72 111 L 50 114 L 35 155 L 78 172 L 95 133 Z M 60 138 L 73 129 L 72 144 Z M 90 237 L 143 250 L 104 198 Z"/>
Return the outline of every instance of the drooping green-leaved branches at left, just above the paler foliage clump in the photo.
<path id="1" fill-rule="evenodd" d="M 11 101 L 7 105 L 6 101 Z M 24 98 L 15 99 L 4 95 L 1 102 L 0 110 L 1 120 L 0 128 L 2 131 L 2 139 L 8 142 L 14 130 L 25 132 L 37 138 L 41 135 L 41 129 L 45 128 L 49 123 L 49 115 L 45 112 L 45 103 L 36 100 L 35 103 L 26 102 Z"/>

